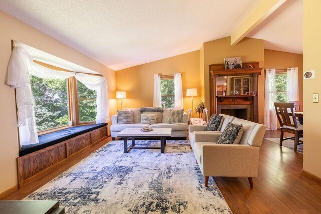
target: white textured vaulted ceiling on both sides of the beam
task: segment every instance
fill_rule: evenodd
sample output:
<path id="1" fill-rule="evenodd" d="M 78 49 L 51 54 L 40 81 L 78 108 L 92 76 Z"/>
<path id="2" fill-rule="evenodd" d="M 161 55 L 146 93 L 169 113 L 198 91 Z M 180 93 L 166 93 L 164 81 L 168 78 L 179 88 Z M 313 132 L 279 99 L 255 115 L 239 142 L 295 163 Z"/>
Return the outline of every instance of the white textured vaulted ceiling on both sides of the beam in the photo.
<path id="1" fill-rule="evenodd" d="M 2 0 L 0 9 L 116 71 L 230 36 L 260 2 Z M 301 54 L 302 2 L 287 1 L 248 37 L 264 39 L 268 49 Z"/>

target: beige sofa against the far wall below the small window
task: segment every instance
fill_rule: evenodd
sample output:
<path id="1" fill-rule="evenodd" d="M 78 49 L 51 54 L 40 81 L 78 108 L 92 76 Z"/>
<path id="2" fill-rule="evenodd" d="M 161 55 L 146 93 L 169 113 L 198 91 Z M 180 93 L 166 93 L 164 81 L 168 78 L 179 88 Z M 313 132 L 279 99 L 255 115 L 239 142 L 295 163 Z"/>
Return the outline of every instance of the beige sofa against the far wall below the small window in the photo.
<path id="1" fill-rule="evenodd" d="M 110 134 L 112 140 L 115 140 L 117 133 L 126 128 L 172 128 L 173 138 L 186 139 L 187 138 L 187 128 L 188 128 L 188 114 L 184 112 L 183 123 L 167 123 L 170 109 L 163 109 L 163 112 L 140 112 L 140 108 L 124 108 L 123 110 L 133 112 L 133 124 L 117 124 L 117 115 L 111 116 Z M 156 124 L 140 124 L 141 114 L 156 114 Z"/>

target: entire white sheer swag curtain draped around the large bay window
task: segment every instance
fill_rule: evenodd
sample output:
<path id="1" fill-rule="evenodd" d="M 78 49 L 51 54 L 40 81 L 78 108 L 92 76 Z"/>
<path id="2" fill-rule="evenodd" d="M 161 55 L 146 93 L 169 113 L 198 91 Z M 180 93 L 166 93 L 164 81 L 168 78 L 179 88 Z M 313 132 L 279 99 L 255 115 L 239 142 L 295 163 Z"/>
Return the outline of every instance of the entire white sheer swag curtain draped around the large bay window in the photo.
<path id="1" fill-rule="evenodd" d="M 29 75 L 43 79 L 67 79 L 75 76 L 91 90 L 97 91 L 96 123 L 109 121 L 109 106 L 106 78 L 74 72 L 56 71 L 33 62 L 29 53 L 15 47 L 8 65 L 8 85 L 16 88 L 18 108 L 18 126 L 21 145 L 38 143 L 37 126 L 35 119 L 35 100 L 31 92 Z"/>

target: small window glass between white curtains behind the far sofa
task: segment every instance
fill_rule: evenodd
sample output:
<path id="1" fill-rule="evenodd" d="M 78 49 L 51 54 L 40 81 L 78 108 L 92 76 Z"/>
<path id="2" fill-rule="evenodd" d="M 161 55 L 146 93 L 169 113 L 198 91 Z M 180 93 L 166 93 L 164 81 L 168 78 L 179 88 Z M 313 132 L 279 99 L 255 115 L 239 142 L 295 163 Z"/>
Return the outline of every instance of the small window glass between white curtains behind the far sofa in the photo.
<path id="1" fill-rule="evenodd" d="M 175 95 L 174 95 L 174 77 L 162 78 L 161 77 L 161 95 L 162 104 L 166 108 L 173 108 L 175 106 Z"/>

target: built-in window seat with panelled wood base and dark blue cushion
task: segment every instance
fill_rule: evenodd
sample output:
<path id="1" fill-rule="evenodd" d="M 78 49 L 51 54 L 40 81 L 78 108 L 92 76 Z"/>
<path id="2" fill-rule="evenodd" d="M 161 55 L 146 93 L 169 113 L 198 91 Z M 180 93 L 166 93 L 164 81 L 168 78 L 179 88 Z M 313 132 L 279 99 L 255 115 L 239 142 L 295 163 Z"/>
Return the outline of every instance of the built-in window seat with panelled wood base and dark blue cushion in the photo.
<path id="1" fill-rule="evenodd" d="M 70 127 L 39 136 L 37 144 L 22 146 L 17 157 L 19 187 L 46 177 L 86 149 L 103 145 L 107 127 L 107 123 Z"/>

